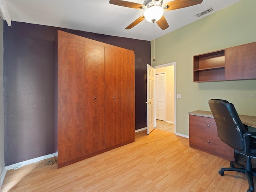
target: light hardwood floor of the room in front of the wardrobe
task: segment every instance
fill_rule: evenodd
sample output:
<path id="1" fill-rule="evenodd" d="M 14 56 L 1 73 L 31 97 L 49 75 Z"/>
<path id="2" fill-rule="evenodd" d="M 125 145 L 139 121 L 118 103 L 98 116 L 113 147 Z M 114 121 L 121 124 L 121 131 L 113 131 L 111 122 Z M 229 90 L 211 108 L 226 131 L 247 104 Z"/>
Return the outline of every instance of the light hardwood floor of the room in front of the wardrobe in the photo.
<path id="1" fill-rule="evenodd" d="M 60 169 L 41 161 L 8 170 L 2 192 L 246 192 L 244 174 L 218 174 L 229 165 L 190 148 L 187 138 L 144 130 L 134 143 Z"/>

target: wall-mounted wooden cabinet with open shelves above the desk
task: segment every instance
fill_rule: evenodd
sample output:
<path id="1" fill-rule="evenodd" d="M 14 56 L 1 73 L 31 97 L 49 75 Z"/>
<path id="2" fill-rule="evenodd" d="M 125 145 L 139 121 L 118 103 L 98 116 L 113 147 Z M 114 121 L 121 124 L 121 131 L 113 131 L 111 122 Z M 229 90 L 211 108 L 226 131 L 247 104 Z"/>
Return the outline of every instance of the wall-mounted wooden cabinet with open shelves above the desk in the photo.
<path id="1" fill-rule="evenodd" d="M 256 42 L 194 56 L 194 82 L 256 79 Z"/>

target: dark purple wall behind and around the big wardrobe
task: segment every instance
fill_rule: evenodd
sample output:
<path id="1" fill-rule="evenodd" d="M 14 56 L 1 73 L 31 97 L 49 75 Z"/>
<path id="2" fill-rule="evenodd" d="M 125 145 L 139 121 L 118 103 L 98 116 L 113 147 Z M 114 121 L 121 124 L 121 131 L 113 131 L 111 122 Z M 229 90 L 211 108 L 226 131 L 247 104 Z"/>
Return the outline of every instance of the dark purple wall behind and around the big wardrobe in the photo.
<path id="1" fill-rule="evenodd" d="M 4 22 L 5 166 L 54 152 L 54 38 L 63 30 L 135 52 L 136 128 L 147 126 L 150 42 L 50 26 Z"/>

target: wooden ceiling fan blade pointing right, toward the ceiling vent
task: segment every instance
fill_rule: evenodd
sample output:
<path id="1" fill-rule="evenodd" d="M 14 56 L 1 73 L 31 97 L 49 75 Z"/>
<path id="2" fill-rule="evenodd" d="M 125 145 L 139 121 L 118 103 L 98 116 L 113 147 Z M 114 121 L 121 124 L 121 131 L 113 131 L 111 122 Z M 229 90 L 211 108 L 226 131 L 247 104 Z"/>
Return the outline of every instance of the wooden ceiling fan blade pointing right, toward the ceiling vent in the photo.
<path id="1" fill-rule="evenodd" d="M 180 9 L 202 3 L 203 0 L 174 0 L 164 4 L 165 11 Z"/>

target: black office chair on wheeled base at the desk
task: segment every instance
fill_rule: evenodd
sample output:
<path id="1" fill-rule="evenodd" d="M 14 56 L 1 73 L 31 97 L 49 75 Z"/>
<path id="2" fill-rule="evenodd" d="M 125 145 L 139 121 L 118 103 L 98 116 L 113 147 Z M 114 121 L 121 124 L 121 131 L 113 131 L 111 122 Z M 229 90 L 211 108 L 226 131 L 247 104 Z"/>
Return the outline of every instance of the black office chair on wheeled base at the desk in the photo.
<path id="1" fill-rule="evenodd" d="M 218 137 L 224 143 L 246 156 L 245 166 L 230 161 L 230 168 L 221 168 L 219 174 L 224 175 L 225 171 L 237 171 L 247 175 L 249 189 L 254 191 L 253 176 L 256 176 L 256 169 L 252 168 L 251 156 L 256 156 L 256 132 L 248 132 L 240 120 L 232 103 L 226 100 L 209 100 L 210 110 L 216 122 Z M 239 168 L 235 167 L 238 166 Z"/>

